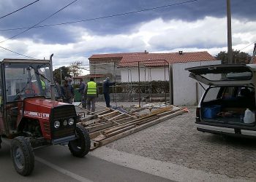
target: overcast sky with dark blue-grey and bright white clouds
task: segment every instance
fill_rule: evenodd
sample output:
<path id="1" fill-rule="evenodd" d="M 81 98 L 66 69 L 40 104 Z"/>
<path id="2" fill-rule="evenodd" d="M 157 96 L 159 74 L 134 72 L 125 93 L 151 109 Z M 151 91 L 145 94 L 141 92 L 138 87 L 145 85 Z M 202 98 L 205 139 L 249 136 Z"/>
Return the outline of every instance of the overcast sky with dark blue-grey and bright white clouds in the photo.
<path id="1" fill-rule="evenodd" d="M 0 17 L 33 1 L 0 0 Z M 217 55 L 227 51 L 226 0 L 77 0 L 70 4 L 72 1 L 39 0 L 1 18 L 0 46 L 38 59 L 48 59 L 53 53 L 54 68 L 76 60 L 86 64 L 91 55 L 101 53 L 183 50 Z M 231 0 L 234 50 L 252 54 L 255 5 L 255 0 Z M 148 10 L 140 11 L 143 9 Z M 37 23 L 44 27 L 31 28 Z M 59 23 L 67 24 L 56 25 Z M 0 58 L 25 58 L 13 52 L 0 48 Z"/>

